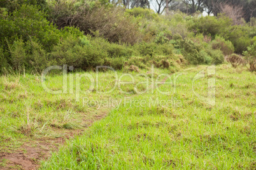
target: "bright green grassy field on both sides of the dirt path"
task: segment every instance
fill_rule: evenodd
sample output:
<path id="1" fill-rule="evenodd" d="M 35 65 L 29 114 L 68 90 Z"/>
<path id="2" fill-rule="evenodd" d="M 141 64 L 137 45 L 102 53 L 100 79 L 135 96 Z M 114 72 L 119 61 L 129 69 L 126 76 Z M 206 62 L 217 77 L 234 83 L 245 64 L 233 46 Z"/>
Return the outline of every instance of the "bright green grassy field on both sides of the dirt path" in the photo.
<path id="1" fill-rule="evenodd" d="M 122 81 L 134 77 L 134 82 L 118 84 L 107 94 L 97 93 L 96 86 L 90 88 L 89 79 L 83 77 L 79 88 L 90 93 L 79 96 L 76 81 L 70 80 L 83 73 L 68 74 L 67 93 L 58 95 L 46 93 L 41 77 L 2 76 L 1 152 L 73 132 L 75 138 L 43 160 L 41 169 L 256 169 L 255 73 L 219 65 L 215 75 L 206 74 L 192 84 L 201 70 L 207 72 L 206 66 L 180 74 L 160 69 L 155 74 L 141 70 L 141 75 L 117 72 L 118 78 L 124 76 Z M 156 84 L 162 73 L 170 79 L 163 75 L 159 77 L 163 82 Z M 95 72 L 89 74 L 97 79 Z M 138 84 L 146 76 L 148 83 Z M 43 82 L 57 91 L 63 79 L 50 75 Z M 215 105 L 195 95 L 207 96 L 213 88 L 209 79 L 216 83 Z M 113 72 L 99 73 L 100 92 L 109 91 L 115 82 Z M 102 115 L 107 116 L 101 119 Z M 0 161 L 0 167 L 6 167 L 10 160 Z"/>

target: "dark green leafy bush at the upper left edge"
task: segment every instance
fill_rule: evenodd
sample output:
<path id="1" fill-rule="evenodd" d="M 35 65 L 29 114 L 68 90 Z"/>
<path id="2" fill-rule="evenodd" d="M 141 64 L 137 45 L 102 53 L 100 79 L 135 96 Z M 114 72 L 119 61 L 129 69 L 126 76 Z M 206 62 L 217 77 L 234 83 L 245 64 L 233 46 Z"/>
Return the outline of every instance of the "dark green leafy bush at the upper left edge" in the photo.
<path id="1" fill-rule="evenodd" d="M 38 39 L 48 52 L 62 36 L 61 31 L 46 20 L 45 13 L 39 11 L 36 6 L 28 5 L 22 5 L 7 18 L 0 18 L 0 30 L 2 44 L 6 44 L 6 39 L 12 44 L 19 37 L 22 37 L 24 42 L 32 37 Z M 7 48 L 7 45 L 4 48 Z"/>

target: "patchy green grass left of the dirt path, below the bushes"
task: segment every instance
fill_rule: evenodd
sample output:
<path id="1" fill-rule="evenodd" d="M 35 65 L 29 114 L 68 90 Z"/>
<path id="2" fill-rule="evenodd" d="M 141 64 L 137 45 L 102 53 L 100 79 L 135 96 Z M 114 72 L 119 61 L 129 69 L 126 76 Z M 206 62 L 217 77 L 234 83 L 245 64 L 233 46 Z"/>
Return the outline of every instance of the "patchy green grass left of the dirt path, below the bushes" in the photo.
<path id="1" fill-rule="evenodd" d="M 146 72 L 146 70 L 143 70 Z M 168 70 L 157 70 L 168 72 Z M 121 98 L 122 94 L 115 89 L 112 94 L 101 95 L 95 89 L 89 95 L 80 93 L 76 101 L 76 74 L 83 75 L 85 72 L 76 72 L 67 75 L 67 93 L 53 95 L 43 89 L 41 77 L 31 74 L 3 75 L 0 77 L 0 151 L 14 152 L 24 143 L 42 138 L 59 138 L 69 134 L 69 131 L 84 129 L 90 126 L 90 122 L 96 121 L 96 114 L 106 112 L 111 108 L 98 109 L 99 106 L 86 105 L 83 98 L 89 100 L 107 100 L 108 98 Z M 96 72 L 87 72 L 96 79 Z M 120 75 L 122 72 L 117 72 Z M 131 72 L 136 75 L 138 73 Z M 73 79 L 73 87 L 69 83 Z M 145 79 L 135 77 L 135 83 Z M 130 81 L 124 77 L 122 81 Z M 47 88 L 53 91 L 63 91 L 63 76 L 60 73 L 46 75 Z M 115 85 L 113 72 L 99 72 L 99 91 L 109 91 Z M 87 77 L 80 78 L 82 91 L 90 88 Z M 94 87 L 96 88 L 96 87 Z M 121 86 L 124 91 L 134 92 L 133 85 Z M 143 90 L 144 86 L 139 86 Z M 73 92 L 71 92 L 73 91 Z M 132 96 L 134 93 L 127 95 Z M 93 103 L 92 103 L 93 104 Z M 95 118 L 96 117 L 96 118 Z"/>

